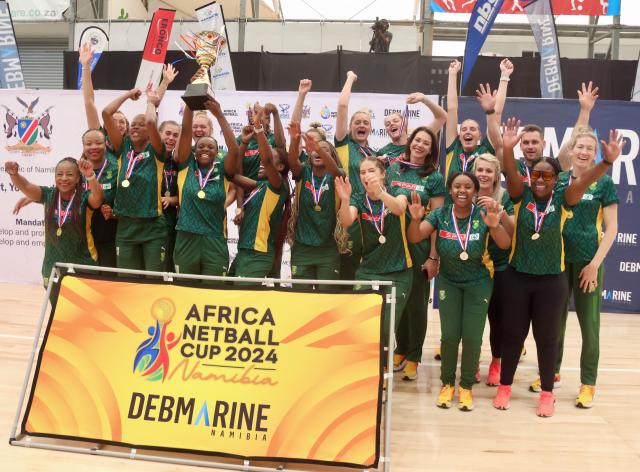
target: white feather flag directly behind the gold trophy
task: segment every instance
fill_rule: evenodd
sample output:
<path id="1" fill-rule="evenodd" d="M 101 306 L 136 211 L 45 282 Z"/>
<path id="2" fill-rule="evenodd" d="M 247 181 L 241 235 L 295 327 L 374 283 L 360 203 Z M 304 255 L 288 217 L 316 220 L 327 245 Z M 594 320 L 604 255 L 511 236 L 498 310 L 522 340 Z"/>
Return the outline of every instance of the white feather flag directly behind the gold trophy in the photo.
<path id="1" fill-rule="evenodd" d="M 216 2 L 208 3 L 196 8 L 196 17 L 200 26 L 205 31 L 214 31 L 225 37 L 226 43 L 218 52 L 218 59 L 214 67 L 209 71 L 211 75 L 212 90 L 235 90 L 236 80 L 233 77 L 233 67 L 231 66 L 231 54 L 229 49 L 229 37 L 224 21 L 222 5 Z"/>

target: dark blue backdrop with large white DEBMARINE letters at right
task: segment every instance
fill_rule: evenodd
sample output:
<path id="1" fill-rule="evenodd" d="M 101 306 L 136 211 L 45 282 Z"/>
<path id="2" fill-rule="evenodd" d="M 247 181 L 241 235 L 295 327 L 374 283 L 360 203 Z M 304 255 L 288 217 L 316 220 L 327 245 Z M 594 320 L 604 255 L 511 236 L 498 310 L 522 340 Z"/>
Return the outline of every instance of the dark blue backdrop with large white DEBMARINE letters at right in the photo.
<path id="1" fill-rule="evenodd" d="M 571 137 L 578 116 L 577 100 L 508 99 L 503 118 L 517 116 L 522 124 L 535 123 L 544 128 L 545 155 L 557 156 L 562 143 Z M 640 312 L 640 104 L 600 100 L 591 113 L 591 126 L 601 138 L 608 139 L 610 129 L 624 136 L 622 154 L 613 165 L 611 176 L 618 190 L 618 236 L 605 261 L 603 311 Z M 475 99 L 462 98 L 460 120 L 474 118 L 484 128 L 486 119 Z M 516 157 L 522 157 L 516 147 Z"/>

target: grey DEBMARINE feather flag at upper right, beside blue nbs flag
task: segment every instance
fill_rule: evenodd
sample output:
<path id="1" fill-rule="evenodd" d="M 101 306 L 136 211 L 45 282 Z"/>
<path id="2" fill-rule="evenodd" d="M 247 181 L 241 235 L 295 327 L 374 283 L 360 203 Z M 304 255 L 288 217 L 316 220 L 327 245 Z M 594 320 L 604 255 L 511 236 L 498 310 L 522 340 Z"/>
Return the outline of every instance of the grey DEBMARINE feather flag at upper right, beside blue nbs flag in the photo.
<path id="1" fill-rule="evenodd" d="M 562 98 L 560 46 L 551 0 L 531 0 L 524 7 L 540 53 L 540 94 Z"/>

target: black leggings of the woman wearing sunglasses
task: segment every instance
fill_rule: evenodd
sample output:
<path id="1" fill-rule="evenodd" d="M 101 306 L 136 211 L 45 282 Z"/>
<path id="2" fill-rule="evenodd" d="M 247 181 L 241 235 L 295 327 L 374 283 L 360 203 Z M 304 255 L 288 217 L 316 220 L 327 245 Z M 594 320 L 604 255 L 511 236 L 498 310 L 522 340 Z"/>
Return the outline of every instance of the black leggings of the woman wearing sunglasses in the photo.
<path id="1" fill-rule="evenodd" d="M 508 287 L 503 291 L 508 315 L 502 320 L 502 366 L 500 383 L 511 385 L 520 351 L 533 327 L 538 351 L 538 370 L 542 390 L 553 390 L 558 332 L 564 302 L 569 291 L 564 274 L 532 275 L 509 267 L 505 272 Z"/>

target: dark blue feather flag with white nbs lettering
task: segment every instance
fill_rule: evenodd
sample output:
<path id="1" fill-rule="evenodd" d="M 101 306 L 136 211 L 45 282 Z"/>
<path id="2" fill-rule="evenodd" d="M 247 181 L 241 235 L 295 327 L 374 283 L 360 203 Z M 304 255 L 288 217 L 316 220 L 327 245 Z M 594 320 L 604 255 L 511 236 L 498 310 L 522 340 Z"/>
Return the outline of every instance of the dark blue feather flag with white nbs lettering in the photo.
<path id="1" fill-rule="evenodd" d="M 464 90 L 464 86 L 471 76 L 482 45 L 489 36 L 489 31 L 491 31 L 503 3 L 504 0 L 478 0 L 471 12 L 467 28 L 467 42 L 464 46 L 460 90 Z"/>

